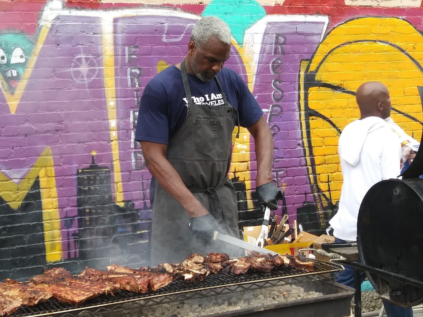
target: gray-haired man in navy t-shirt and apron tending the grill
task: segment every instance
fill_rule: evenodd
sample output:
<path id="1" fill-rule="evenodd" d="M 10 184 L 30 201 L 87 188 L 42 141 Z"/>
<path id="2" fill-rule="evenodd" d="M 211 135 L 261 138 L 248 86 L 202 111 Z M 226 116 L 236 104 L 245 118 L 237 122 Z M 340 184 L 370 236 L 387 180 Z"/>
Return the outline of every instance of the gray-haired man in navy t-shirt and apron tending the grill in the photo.
<path id="1" fill-rule="evenodd" d="M 231 253 L 215 230 L 239 238 L 236 193 L 228 178 L 232 132 L 255 140 L 256 192 L 271 210 L 282 198 L 272 182 L 273 140 L 261 107 L 242 78 L 223 65 L 231 31 L 206 16 L 192 28 L 187 56 L 157 74 L 141 97 L 135 139 L 155 180 L 151 265 L 189 254 Z M 239 251 L 239 250 L 238 250 Z"/>

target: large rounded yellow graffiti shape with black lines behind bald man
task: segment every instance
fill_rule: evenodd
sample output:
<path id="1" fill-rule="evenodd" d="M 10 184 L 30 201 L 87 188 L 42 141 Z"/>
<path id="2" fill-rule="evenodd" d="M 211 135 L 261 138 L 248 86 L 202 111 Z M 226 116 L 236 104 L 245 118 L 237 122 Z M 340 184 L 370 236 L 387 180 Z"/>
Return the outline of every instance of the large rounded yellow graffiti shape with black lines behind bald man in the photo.
<path id="1" fill-rule="evenodd" d="M 363 32 L 363 25 L 367 32 Z M 392 36 L 395 32 L 398 35 Z M 422 49 L 423 36 L 406 20 L 363 17 L 333 28 L 313 57 L 303 61 L 300 111 L 304 116 L 305 157 L 322 219 L 333 216 L 341 196 L 338 137 L 360 116 L 354 104 L 361 84 L 370 80 L 384 83 L 393 105 L 391 118 L 404 131 L 421 138 L 417 86 L 423 84 Z"/>

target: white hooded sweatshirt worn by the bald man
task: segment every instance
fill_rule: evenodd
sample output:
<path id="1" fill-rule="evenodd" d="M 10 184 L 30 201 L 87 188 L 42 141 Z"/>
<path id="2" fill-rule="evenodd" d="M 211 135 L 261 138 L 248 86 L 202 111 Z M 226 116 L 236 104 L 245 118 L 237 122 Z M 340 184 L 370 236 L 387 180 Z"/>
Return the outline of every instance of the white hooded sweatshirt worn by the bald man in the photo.
<path id="1" fill-rule="evenodd" d="M 343 129 L 338 153 L 343 184 L 338 212 L 329 223 L 336 238 L 355 241 L 358 210 L 367 191 L 400 174 L 401 143 L 385 120 L 368 117 Z"/>

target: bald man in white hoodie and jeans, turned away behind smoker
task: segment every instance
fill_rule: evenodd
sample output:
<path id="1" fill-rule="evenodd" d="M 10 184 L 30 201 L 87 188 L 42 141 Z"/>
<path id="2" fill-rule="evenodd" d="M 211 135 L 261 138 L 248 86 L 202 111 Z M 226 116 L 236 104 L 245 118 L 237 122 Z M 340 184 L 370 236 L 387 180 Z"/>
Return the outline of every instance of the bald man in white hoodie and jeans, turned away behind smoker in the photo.
<path id="1" fill-rule="evenodd" d="M 366 82 L 358 87 L 356 100 L 360 119 L 344 128 L 338 142 L 343 184 L 338 212 L 329 221 L 335 242 L 357 240 L 358 210 L 365 194 L 374 184 L 400 175 L 401 142 L 386 121 L 391 112 L 389 91 L 380 82 Z M 336 281 L 354 287 L 354 269 L 344 267 Z M 411 308 L 383 304 L 388 317 L 412 317 Z"/>

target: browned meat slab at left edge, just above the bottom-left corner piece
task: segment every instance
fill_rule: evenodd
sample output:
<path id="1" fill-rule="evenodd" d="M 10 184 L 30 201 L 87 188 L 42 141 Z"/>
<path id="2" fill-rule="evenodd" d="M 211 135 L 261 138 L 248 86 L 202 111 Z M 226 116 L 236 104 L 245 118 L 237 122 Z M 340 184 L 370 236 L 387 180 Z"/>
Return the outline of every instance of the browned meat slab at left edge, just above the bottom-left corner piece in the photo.
<path id="1" fill-rule="evenodd" d="M 39 291 L 27 285 L 0 283 L 0 294 L 8 295 L 22 300 L 22 305 L 34 306 L 43 303 L 52 297 L 52 293 Z"/>

